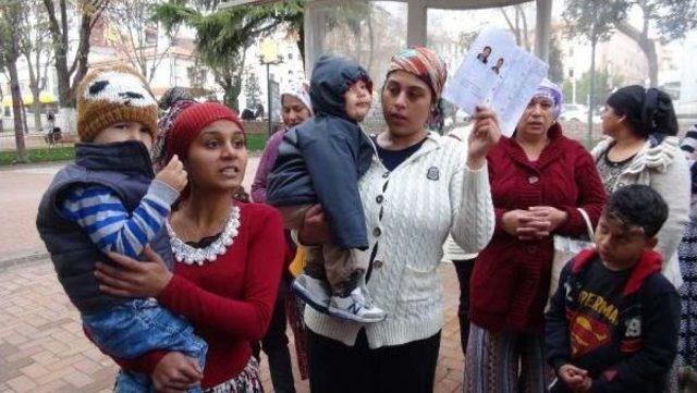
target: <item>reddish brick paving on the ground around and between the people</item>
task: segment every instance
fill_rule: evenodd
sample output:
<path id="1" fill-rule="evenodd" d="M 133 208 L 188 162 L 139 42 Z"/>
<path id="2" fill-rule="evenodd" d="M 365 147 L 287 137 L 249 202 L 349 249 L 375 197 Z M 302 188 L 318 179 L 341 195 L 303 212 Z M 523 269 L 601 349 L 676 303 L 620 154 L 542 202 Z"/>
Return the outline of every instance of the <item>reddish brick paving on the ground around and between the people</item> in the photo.
<path id="1" fill-rule="evenodd" d="M 435 392 L 461 392 L 464 360 L 456 318 L 457 279 L 450 263 L 442 265 L 441 274 L 447 317 Z M 48 260 L 0 269 L 0 393 L 110 392 L 117 367 L 83 335 L 77 311 Z M 289 328 L 294 351 L 290 332 Z M 309 392 L 292 357 L 296 389 Z M 267 392 L 273 392 L 265 359 L 261 378 Z"/>

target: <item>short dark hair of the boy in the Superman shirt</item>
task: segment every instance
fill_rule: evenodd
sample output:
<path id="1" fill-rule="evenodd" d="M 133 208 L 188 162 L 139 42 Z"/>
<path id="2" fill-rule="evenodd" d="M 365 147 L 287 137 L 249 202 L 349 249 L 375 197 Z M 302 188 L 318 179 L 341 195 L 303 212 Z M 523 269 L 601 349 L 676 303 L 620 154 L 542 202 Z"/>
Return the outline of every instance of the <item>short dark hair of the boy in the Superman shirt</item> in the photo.
<path id="1" fill-rule="evenodd" d="M 668 219 L 668 205 L 653 188 L 632 184 L 612 193 L 602 213 L 626 226 L 639 226 L 646 236 L 653 237 Z"/>

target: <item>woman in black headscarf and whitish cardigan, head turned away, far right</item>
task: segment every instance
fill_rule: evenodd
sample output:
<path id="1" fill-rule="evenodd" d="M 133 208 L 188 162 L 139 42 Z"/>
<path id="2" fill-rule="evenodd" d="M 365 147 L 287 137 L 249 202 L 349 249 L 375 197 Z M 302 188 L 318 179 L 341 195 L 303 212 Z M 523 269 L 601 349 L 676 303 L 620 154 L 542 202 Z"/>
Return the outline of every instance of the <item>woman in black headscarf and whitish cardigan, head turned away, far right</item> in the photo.
<path id="1" fill-rule="evenodd" d="M 680 149 L 677 120 L 670 97 L 656 88 L 626 86 L 613 93 L 602 113 L 609 138 L 591 151 L 608 194 L 629 184 L 656 189 L 670 209 L 658 233 L 663 274 L 680 287 L 677 246 L 689 222 L 690 176 Z"/>

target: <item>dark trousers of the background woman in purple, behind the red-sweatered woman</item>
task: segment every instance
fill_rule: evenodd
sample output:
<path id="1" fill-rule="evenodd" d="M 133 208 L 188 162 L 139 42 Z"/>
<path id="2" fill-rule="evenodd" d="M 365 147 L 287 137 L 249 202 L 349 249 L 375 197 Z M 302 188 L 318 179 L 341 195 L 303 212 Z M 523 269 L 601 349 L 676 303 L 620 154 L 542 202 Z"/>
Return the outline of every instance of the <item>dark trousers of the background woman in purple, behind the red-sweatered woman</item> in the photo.
<path id="1" fill-rule="evenodd" d="M 295 393 L 291 353 L 288 348 L 288 335 L 285 335 L 285 296 L 288 291 L 289 283 L 284 278 L 281 278 L 269 329 L 264 339 L 261 339 L 261 345 L 259 345 L 259 342 L 252 345 L 252 352 L 257 360 L 259 360 L 260 349 L 264 349 L 267 355 L 271 383 L 273 384 L 273 391 L 277 393 Z"/>

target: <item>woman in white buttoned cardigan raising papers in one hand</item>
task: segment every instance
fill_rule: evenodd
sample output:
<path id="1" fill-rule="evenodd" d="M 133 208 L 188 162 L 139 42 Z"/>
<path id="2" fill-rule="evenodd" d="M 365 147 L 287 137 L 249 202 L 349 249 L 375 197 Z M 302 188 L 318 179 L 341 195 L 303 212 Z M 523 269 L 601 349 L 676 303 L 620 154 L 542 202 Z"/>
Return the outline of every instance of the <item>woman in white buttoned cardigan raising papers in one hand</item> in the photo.
<path id="1" fill-rule="evenodd" d="M 494 216 L 486 155 L 500 135 L 496 115 L 480 110 L 468 144 L 435 132 L 445 64 L 427 48 L 392 58 L 382 87 L 389 130 L 374 137 L 376 158 L 360 180 L 371 268 L 367 287 L 384 321 L 342 322 L 309 307 L 313 392 L 430 392 L 443 327 L 439 265 L 449 234 L 467 253 L 484 248 Z M 301 242 L 327 234 L 308 213 Z"/>

